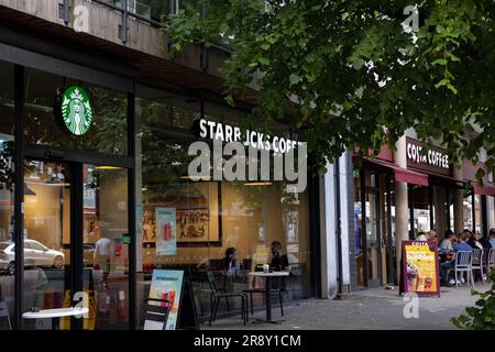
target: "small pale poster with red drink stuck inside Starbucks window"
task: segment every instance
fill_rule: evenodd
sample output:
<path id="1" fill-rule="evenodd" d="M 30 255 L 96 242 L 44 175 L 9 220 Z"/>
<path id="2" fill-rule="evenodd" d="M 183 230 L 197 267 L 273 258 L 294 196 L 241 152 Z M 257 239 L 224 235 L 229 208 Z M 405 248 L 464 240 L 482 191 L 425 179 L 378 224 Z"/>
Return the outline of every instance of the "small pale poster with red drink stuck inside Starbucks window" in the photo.
<path id="1" fill-rule="evenodd" d="M 155 208 L 156 255 L 176 255 L 176 211 L 175 208 Z"/>

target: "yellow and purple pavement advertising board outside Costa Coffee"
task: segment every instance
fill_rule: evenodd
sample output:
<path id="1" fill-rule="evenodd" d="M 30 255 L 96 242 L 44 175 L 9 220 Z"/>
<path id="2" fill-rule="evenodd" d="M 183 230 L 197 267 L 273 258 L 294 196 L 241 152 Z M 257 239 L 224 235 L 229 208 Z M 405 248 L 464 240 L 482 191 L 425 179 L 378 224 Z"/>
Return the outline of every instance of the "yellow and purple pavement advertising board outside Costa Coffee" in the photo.
<path id="1" fill-rule="evenodd" d="M 403 278 L 405 293 L 440 296 L 437 242 L 403 242 Z"/>

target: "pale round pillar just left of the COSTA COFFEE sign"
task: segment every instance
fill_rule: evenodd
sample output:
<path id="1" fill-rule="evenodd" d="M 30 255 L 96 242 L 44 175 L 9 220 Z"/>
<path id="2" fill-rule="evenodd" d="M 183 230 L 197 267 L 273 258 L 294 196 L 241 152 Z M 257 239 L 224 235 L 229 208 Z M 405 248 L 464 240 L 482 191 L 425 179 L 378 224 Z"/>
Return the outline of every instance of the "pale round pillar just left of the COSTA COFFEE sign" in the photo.
<path id="1" fill-rule="evenodd" d="M 403 135 L 395 145 L 396 152 L 394 153 L 395 163 L 407 168 L 406 158 L 406 135 Z M 394 183 L 395 188 L 395 249 L 397 256 L 397 282 L 400 280 L 400 256 L 402 256 L 402 243 L 403 241 L 409 240 L 409 206 L 407 196 L 407 184 L 406 183 Z"/>

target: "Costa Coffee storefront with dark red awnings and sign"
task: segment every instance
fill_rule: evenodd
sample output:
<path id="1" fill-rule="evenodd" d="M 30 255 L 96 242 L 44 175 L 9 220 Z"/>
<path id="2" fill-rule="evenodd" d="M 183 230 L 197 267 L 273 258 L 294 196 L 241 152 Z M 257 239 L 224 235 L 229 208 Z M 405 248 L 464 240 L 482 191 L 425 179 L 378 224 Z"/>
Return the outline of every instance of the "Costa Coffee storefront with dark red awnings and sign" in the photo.
<path id="1" fill-rule="evenodd" d="M 395 183 L 407 183 L 409 238 L 436 229 L 453 229 L 454 193 L 463 187 L 453 177 L 446 150 L 427 147 L 420 141 L 406 139 L 397 154 L 384 146 L 376 158 L 365 160 L 354 170 L 354 229 L 358 287 L 394 283 L 396 273 Z M 367 263 L 367 265 L 364 265 Z"/>

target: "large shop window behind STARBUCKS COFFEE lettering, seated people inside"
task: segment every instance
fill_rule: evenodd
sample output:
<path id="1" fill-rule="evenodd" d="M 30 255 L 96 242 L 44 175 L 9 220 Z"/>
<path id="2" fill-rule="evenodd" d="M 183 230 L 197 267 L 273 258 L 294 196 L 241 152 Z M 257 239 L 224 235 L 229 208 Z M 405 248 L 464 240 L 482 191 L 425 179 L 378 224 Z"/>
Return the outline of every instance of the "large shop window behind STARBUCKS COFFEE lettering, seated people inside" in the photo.
<path id="1" fill-rule="evenodd" d="M 210 312 L 207 271 L 213 272 L 218 287 L 234 292 L 250 288 L 253 282 L 249 272 L 272 261 L 274 241 L 282 243 L 290 264 L 285 299 L 307 297 L 308 194 L 288 195 L 279 182 L 195 182 L 187 176 L 194 157 L 187 155 L 187 150 L 195 141 L 191 131 L 200 117 L 199 100 L 148 92 L 146 99 L 138 99 L 136 109 L 136 145 L 142 151 L 136 198 L 142 202 L 143 248 L 138 302 L 150 294 L 146 283 L 153 270 L 187 268 L 198 314 L 206 317 Z M 233 109 L 206 105 L 205 110 L 209 120 L 238 121 L 241 125 L 239 112 Z M 263 295 L 253 298 L 255 306 L 263 305 Z M 232 309 L 239 302 L 230 304 Z"/>

